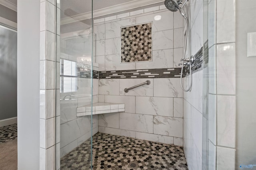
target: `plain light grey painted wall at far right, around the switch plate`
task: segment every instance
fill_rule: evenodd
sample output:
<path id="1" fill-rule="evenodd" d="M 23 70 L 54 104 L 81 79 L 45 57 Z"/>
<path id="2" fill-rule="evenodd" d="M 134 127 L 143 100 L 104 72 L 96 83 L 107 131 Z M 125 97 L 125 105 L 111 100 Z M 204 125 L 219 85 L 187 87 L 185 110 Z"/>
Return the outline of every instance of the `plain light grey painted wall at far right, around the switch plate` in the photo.
<path id="1" fill-rule="evenodd" d="M 236 1 L 236 168 L 256 162 L 256 58 L 247 57 L 247 33 L 256 32 L 255 9 L 254 0 Z"/>

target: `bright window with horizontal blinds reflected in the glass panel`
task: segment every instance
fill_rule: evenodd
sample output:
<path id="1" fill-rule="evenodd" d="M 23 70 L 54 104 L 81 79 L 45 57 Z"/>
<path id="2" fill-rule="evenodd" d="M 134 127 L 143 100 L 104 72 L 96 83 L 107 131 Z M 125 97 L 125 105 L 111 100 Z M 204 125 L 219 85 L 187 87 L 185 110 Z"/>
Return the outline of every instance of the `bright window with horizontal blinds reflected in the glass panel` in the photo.
<path id="1" fill-rule="evenodd" d="M 77 91 L 77 64 L 75 61 L 60 59 L 60 92 Z"/>

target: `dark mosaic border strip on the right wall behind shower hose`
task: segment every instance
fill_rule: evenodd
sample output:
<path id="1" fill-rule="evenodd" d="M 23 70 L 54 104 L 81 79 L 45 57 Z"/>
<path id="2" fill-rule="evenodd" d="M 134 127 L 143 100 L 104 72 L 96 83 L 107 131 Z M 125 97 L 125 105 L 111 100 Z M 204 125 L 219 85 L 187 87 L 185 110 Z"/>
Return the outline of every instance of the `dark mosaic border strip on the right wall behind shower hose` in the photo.
<path id="1" fill-rule="evenodd" d="M 198 70 L 202 69 L 203 64 L 203 47 L 200 48 L 200 50 L 194 55 L 194 63 L 192 64 L 192 74 L 193 72 L 196 72 Z M 182 77 L 186 77 L 190 74 L 189 66 L 184 66 L 184 72 Z"/>

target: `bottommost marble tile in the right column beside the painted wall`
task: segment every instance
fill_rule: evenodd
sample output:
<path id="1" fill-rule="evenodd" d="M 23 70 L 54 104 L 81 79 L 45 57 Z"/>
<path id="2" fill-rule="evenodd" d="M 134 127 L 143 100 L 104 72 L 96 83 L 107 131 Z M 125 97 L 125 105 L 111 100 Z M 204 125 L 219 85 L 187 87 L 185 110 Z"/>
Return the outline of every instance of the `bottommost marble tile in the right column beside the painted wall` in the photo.
<path id="1" fill-rule="evenodd" d="M 236 149 L 217 147 L 217 170 L 234 170 Z M 228 165 L 228 166 L 227 166 Z"/>

